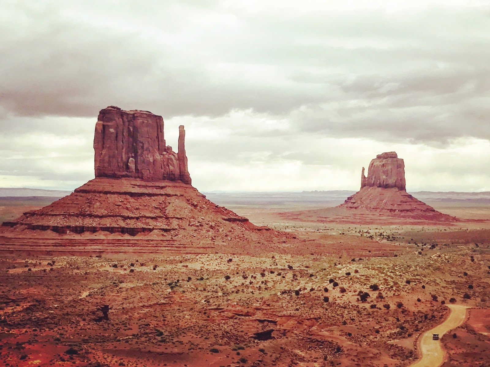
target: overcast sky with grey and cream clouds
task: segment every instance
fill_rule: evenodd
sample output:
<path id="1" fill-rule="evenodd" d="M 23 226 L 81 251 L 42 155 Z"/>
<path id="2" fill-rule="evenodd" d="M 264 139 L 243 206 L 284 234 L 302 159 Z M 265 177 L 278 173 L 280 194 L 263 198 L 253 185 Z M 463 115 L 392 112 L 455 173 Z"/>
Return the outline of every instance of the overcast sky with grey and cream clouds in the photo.
<path id="1" fill-rule="evenodd" d="M 76 2 L 76 4 L 75 4 Z M 0 0 L 0 187 L 94 177 L 109 105 L 186 127 L 199 191 L 490 191 L 490 1 Z"/>

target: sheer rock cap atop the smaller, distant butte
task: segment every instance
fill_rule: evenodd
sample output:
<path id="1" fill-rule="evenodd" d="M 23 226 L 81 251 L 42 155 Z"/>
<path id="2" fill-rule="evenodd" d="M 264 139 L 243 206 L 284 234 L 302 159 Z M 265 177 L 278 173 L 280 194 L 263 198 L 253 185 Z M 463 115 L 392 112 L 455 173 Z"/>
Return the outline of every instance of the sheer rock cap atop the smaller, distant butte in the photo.
<path id="1" fill-rule="evenodd" d="M 391 188 L 405 191 L 405 163 L 397 154 L 386 152 L 378 154 L 369 163 L 368 177 L 361 175 L 361 188 L 365 186 Z"/>

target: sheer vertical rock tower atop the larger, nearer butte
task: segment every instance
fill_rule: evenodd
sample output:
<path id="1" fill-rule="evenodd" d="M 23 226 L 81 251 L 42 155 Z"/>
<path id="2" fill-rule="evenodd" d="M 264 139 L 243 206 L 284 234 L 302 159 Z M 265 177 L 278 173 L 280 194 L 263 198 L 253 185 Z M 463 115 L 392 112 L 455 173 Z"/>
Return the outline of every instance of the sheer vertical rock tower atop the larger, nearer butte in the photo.
<path id="1" fill-rule="evenodd" d="M 162 117 L 148 111 L 101 110 L 94 137 L 95 176 L 191 184 L 184 126 L 179 126 L 178 153 L 166 146 L 163 126 Z"/>

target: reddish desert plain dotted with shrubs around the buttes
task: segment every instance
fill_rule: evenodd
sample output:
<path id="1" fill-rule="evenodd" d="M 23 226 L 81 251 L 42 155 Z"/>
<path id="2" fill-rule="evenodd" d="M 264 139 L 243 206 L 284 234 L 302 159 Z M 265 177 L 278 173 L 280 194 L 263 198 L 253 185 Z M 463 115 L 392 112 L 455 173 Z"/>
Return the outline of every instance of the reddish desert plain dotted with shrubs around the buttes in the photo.
<path id="1" fill-rule="evenodd" d="M 488 203 L 426 201 L 458 218 L 435 223 L 270 197 L 208 195 L 286 233 L 274 246 L 3 251 L 0 365 L 411 366 L 456 305 L 463 323 L 430 340 L 442 366 L 490 366 Z M 3 198 L 0 219 L 46 200 Z"/>

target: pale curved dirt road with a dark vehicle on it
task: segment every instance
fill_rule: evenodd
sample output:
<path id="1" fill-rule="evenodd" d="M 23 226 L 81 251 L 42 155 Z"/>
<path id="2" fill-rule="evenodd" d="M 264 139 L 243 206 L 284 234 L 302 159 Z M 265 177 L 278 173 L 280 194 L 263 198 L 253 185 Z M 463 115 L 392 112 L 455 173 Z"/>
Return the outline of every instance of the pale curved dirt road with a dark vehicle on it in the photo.
<path id="1" fill-rule="evenodd" d="M 432 340 L 432 334 L 439 334 L 442 337 L 449 330 L 460 326 L 466 319 L 466 309 L 464 305 L 447 305 L 451 310 L 449 317 L 437 325 L 435 328 L 426 331 L 418 339 L 418 350 L 422 354 L 419 359 L 410 367 L 439 367 L 444 363 L 444 350 L 441 341 Z"/>

